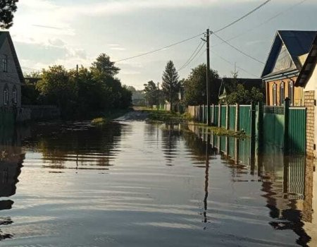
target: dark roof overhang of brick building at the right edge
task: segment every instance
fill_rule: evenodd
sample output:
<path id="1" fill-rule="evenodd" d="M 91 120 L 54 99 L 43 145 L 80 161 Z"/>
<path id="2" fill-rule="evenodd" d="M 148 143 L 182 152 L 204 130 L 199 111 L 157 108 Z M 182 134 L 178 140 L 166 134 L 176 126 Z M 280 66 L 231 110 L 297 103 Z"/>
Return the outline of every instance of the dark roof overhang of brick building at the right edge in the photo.
<path id="1" fill-rule="evenodd" d="M 306 58 L 306 61 L 303 65 L 302 71 L 299 73 L 299 76 L 295 82 L 295 86 L 304 87 L 313 73 L 313 68 L 317 63 L 317 35 L 313 44 L 311 45 L 311 50 Z"/>

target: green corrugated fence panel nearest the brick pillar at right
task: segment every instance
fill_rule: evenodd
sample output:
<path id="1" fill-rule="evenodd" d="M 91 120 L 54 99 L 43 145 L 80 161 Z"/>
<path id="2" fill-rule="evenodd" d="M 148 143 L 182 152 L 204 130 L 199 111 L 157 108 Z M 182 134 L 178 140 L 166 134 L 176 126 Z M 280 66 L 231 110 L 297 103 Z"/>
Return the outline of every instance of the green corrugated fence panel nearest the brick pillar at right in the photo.
<path id="1" fill-rule="evenodd" d="M 306 152 L 306 109 L 290 108 L 289 124 L 290 151 L 304 154 Z"/>

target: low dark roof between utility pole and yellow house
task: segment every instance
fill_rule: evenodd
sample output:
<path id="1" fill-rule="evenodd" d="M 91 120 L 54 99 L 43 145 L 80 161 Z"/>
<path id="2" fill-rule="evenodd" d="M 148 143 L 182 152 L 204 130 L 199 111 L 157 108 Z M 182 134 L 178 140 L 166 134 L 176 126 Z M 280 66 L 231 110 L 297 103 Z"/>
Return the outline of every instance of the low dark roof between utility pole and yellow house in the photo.
<path id="1" fill-rule="evenodd" d="M 223 83 L 221 87 L 219 88 L 219 95 L 223 95 L 223 90 L 225 89 L 225 92 L 227 94 L 231 93 L 231 87 L 230 83 L 234 80 L 233 78 L 223 78 Z M 254 78 L 237 78 L 237 84 L 244 85 L 244 88 L 247 90 L 251 90 L 252 88 L 259 88 L 261 90 L 264 90 L 263 82 L 261 79 L 254 79 Z M 263 91 L 264 92 L 264 91 Z"/>

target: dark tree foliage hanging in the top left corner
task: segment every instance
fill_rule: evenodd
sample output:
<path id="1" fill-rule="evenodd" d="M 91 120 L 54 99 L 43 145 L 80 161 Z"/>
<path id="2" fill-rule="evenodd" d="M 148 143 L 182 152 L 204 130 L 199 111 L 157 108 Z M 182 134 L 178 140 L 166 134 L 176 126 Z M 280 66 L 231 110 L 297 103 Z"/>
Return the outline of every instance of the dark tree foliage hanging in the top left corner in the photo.
<path id="1" fill-rule="evenodd" d="M 8 29 L 13 25 L 13 13 L 17 10 L 18 0 L 0 1 L 0 28 Z"/>

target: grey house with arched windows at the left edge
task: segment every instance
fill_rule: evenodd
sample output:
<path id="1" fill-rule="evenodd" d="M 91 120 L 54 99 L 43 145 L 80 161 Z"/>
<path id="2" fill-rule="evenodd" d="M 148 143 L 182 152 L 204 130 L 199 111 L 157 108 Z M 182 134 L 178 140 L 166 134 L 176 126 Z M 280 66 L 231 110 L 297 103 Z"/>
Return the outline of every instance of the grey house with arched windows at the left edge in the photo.
<path id="1" fill-rule="evenodd" d="M 23 73 L 9 32 L 0 31 L 0 108 L 21 106 Z"/>

